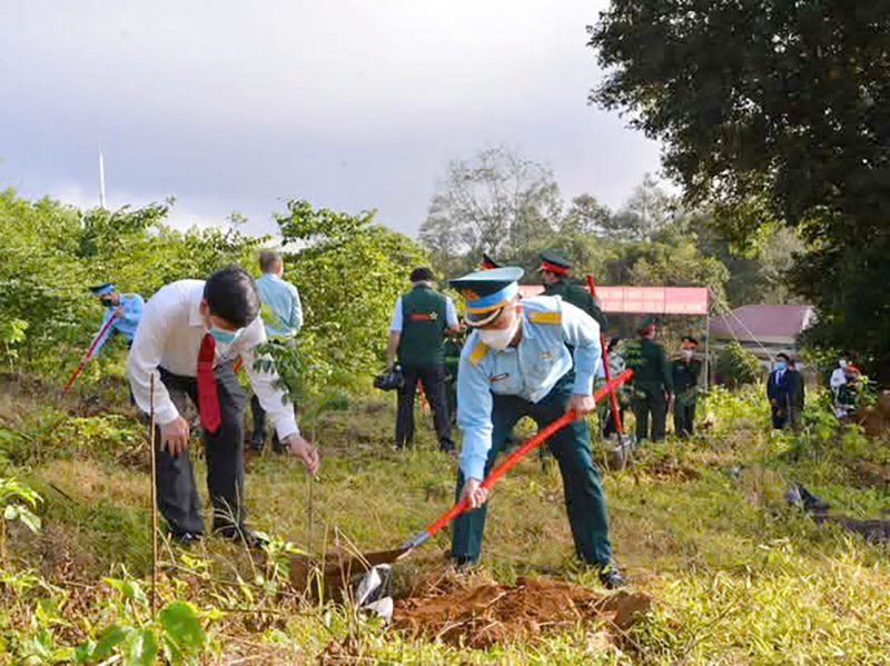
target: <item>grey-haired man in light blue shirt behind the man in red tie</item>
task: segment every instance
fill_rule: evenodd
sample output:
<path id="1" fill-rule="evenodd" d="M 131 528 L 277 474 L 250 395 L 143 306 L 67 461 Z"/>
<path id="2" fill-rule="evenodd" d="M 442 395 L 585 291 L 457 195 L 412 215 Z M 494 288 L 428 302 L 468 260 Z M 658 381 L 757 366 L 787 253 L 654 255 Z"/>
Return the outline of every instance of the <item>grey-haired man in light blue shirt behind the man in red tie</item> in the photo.
<path id="1" fill-rule="evenodd" d="M 260 252 L 259 268 L 263 275 L 257 279 L 257 292 L 263 302 L 261 315 L 266 335 L 271 339 L 278 338 L 279 341 L 285 340 L 290 344 L 303 326 L 299 292 L 294 285 L 281 279 L 285 262 L 279 252 L 273 250 Z M 250 446 L 261 451 L 266 443 L 266 411 L 256 396 L 250 399 L 250 410 L 254 414 Z M 277 434 L 273 436 L 273 447 L 276 451 L 284 450 Z"/>

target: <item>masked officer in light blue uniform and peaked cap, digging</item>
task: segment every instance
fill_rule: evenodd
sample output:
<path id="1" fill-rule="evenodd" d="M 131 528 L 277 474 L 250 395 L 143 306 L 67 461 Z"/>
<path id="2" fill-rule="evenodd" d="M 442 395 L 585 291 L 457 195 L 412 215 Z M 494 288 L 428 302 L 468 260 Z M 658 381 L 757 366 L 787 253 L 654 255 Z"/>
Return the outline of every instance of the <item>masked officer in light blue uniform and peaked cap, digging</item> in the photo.
<path id="1" fill-rule="evenodd" d="M 488 496 L 482 479 L 516 421 L 528 416 L 541 428 L 575 410 L 581 417 L 547 444 L 560 464 L 575 551 L 600 569 L 605 586 L 619 587 L 624 580 L 612 563 L 605 498 L 583 418 L 595 408 L 600 327 L 558 298 L 520 302 L 522 275 L 507 267 L 452 280 L 465 299 L 466 324 L 475 329 L 457 374 L 457 425 L 464 433 L 457 497 L 466 497 L 473 510 L 455 520 L 452 556 L 458 565 L 478 559 Z M 566 345 L 574 347 L 574 361 Z"/>

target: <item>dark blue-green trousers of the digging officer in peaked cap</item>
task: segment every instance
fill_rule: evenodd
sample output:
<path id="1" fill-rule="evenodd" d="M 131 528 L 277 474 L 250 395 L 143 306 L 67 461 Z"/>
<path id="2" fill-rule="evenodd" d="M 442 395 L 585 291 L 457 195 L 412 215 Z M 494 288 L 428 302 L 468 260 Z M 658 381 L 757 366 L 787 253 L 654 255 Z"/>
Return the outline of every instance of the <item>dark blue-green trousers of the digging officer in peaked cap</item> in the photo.
<path id="1" fill-rule="evenodd" d="M 528 416 L 544 428 L 560 418 L 572 397 L 572 384 L 561 380 L 554 389 L 537 404 L 516 396 L 494 396 L 492 407 L 492 448 L 485 464 L 487 475 L 494 467 L 504 441 L 522 417 Z M 609 521 L 605 497 L 600 485 L 600 474 L 593 464 L 591 440 L 586 420 L 573 421 L 557 430 L 547 440 L 547 446 L 560 464 L 565 495 L 568 524 L 575 540 L 575 553 L 589 564 L 605 566 L 612 556 L 609 541 Z M 457 497 L 464 487 L 464 475 L 457 474 Z M 454 520 L 452 555 L 463 561 L 475 561 L 482 551 L 482 536 L 485 529 L 487 503 L 461 514 Z"/>

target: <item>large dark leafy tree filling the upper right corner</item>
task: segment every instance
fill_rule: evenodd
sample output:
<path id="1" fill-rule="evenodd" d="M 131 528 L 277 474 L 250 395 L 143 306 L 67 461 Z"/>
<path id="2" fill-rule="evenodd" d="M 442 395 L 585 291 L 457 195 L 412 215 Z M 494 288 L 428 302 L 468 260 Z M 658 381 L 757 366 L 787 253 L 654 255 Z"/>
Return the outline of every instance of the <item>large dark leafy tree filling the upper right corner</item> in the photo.
<path id="1" fill-rule="evenodd" d="M 890 4 L 613 0 L 589 33 L 606 71 L 591 100 L 662 141 L 666 172 L 734 239 L 799 229 L 810 339 L 890 378 Z"/>

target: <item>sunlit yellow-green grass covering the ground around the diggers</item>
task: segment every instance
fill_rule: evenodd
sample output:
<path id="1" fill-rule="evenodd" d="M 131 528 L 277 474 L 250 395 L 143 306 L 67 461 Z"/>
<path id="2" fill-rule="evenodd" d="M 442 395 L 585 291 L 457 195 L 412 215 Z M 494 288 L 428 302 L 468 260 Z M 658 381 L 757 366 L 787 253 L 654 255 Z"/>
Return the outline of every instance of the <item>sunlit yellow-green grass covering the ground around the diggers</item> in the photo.
<path id="1" fill-rule="evenodd" d="M 14 474 L 46 500 L 40 535 L 10 525 L 0 664 L 23 663 L 41 599 L 59 607 L 59 619 L 46 620 L 52 639 L 72 646 L 126 614 L 103 577 L 150 574 L 148 449 L 121 404 L 126 392 L 113 384 L 100 390 L 111 409 L 0 389 L 3 476 Z M 715 391 L 700 408 L 693 440 L 649 446 L 631 468 L 605 476 L 615 555 L 632 587 L 655 598 L 650 616 L 617 642 L 604 640 L 595 626 L 485 652 L 407 642 L 375 620 L 295 598 L 275 561 L 218 539 L 186 553 L 165 546 L 161 593 L 191 600 L 202 614 L 206 664 L 312 663 L 347 636 L 352 660 L 328 663 L 888 663 L 888 548 L 818 526 L 782 498 L 798 479 L 839 510 L 878 517 L 890 506 L 887 488 L 857 486 L 851 469 L 857 460 L 884 461 L 886 443 L 825 428 L 815 406 L 811 414 L 800 437 L 774 434 L 762 396 Z M 416 449 L 393 450 L 393 420 L 394 406 L 377 395 L 353 397 L 348 408 L 304 424 L 324 455 L 312 526 L 300 466 L 271 454 L 251 458 L 249 524 L 315 553 L 347 541 L 392 548 L 425 526 L 453 499 L 456 461 L 435 450 L 424 427 Z M 194 448 L 206 498 L 204 459 Z M 597 587 L 573 560 L 556 467 L 543 470 L 535 455 L 496 487 L 485 538 L 483 575 L 510 583 L 546 573 Z M 447 547 L 442 534 L 414 554 L 398 567 L 399 584 L 443 568 Z M 10 583 L 26 570 L 44 585 Z"/>

